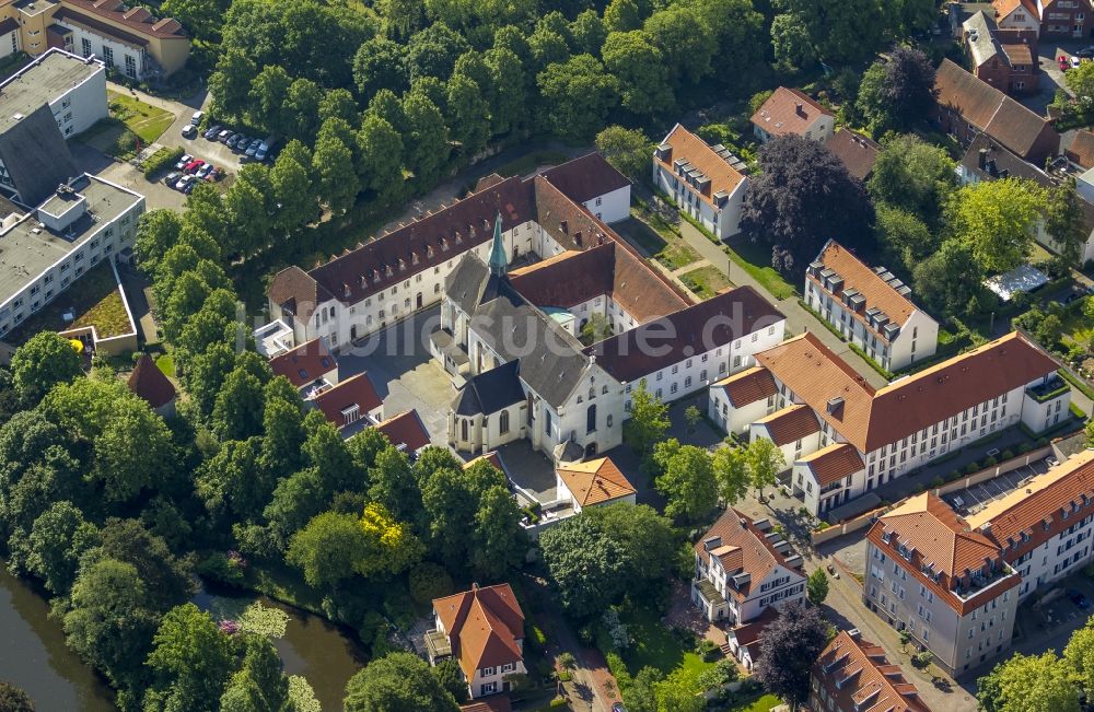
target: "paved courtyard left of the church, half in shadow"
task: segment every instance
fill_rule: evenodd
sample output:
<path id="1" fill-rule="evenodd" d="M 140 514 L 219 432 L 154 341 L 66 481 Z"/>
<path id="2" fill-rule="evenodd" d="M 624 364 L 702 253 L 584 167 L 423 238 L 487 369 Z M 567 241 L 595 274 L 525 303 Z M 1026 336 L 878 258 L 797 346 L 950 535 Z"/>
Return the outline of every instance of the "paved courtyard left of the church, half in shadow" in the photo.
<path id="1" fill-rule="evenodd" d="M 440 306 L 434 306 L 362 339 L 338 357 L 338 377 L 368 372 L 384 401 L 385 418 L 417 410 L 431 442 L 447 447 L 449 407 L 456 389 L 428 346 L 440 318 Z"/>

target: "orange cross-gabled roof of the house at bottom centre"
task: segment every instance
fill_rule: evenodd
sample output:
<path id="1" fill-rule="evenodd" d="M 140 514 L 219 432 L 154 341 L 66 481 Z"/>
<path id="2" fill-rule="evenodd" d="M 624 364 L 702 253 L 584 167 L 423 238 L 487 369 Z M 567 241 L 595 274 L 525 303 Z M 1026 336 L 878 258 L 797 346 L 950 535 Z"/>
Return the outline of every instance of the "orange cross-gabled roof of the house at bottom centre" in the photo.
<path id="1" fill-rule="evenodd" d="M 434 598 L 433 611 L 467 679 L 484 667 L 523 660 L 517 641 L 524 639 L 524 614 L 508 583 Z"/>

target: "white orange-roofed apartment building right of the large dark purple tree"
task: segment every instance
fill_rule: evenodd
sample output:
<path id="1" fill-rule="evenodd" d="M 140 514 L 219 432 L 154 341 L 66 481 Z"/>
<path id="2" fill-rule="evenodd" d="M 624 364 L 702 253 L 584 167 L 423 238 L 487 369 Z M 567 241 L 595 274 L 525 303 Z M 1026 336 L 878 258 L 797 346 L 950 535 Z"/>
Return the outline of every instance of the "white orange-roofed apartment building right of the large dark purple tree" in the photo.
<path id="1" fill-rule="evenodd" d="M 806 269 L 804 294 L 810 308 L 886 371 L 934 355 L 939 324 L 912 303 L 911 288 L 834 240 Z"/>

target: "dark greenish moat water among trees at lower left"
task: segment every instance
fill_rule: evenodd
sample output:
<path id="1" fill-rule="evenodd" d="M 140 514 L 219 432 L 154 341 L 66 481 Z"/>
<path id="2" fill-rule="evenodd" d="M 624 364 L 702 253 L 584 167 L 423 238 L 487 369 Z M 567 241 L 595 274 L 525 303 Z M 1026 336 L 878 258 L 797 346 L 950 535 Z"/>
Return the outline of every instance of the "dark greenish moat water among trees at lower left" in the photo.
<path id="1" fill-rule="evenodd" d="M 303 675 L 324 712 L 342 709 L 346 682 L 364 665 L 356 639 L 312 614 L 263 596 L 210 593 L 194 603 L 214 618 L 232 618 L 255 600 L 289 614 L 284 638 L 275 641 L 286 673 Z M 114 693 L 65 645 L 65 633 L 48 617 L 49 605 L 0 561 L 0 680 L 26 690 L 43 712 L 109 712 Z"/>

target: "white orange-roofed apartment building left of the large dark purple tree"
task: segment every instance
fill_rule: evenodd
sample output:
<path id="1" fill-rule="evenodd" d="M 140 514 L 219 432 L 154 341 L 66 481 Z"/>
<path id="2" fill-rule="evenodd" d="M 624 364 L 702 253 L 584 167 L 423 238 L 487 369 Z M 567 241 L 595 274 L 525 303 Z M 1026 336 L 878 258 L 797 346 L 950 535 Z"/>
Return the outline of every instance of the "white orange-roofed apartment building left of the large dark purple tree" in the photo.
<path id="1" fill-rule="evenodd" d="M 741 232 L 748 167 L 677 124 L 653 151 L 653 185 L 719 240 Z"/>

